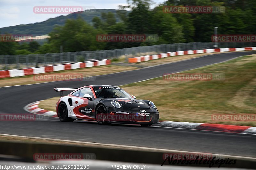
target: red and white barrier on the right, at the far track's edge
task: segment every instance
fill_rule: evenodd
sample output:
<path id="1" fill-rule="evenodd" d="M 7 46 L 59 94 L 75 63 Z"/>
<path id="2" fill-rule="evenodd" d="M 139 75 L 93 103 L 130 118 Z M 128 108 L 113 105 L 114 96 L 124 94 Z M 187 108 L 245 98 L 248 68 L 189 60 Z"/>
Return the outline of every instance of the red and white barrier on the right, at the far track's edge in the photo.
<path id="1" fill-rule="evenodd" d="M 161 53 L 156 55 L 147 55 L 141 57 L 129 58 L 129 63 L 139 63 L 148 60 L 155 60 L 159 58 L 177 56 L 177 55 L 187 55 L 187 54 L 200 54 L 200 53 L 214 53 L 214 52 L 228 52 L 228 51 L 250 51 L 256 50 L 256 47 L 242 47 L 242 48 L 219 48 L 219 49 L 198 49 L 198 50 L 189 50 L 189 51 L 177 51 L 169 53 Z"/>

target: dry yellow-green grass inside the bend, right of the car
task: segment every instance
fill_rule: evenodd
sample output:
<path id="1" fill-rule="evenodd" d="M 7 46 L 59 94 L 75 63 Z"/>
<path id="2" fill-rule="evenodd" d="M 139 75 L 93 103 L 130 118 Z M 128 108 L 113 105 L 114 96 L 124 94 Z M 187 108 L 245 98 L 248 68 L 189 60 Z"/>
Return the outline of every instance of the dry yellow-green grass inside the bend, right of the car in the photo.
<path id="1" fill-rule="evenodd" d="M 170 81 L 160 77 L 122 88 L 137 98 L 153 101 L 161 120 L 256 125 L 255 120 L 212 120 L 213 114 L 256 114 L 256 55 L 183 73 L 225 74 L 225 80 Z"/>

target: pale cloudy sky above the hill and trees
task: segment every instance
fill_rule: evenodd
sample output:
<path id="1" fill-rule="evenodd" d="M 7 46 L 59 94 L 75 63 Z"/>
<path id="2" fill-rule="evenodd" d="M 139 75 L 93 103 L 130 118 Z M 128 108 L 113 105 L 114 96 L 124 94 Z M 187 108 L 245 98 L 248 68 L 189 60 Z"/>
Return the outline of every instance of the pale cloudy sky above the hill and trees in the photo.
<path id="1" fill-rule="evenodd" d="M 160 4 L 164 0 L 153 0 Z M 67 14 L 36 14 L 35 6 L 82 6 L 96 9 L 118 9 L 127 5 L 126 0 L 0 0 L 0 28 L 42 22 L 49 18 Z"/>

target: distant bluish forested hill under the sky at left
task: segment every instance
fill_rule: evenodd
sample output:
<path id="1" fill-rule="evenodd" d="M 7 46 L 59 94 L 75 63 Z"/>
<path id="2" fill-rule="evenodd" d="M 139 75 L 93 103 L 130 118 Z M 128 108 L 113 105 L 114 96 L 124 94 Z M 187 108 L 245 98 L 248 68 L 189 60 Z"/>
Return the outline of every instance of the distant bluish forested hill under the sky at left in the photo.
<path id="1" fill-rule="evenodd" d="M 33 24 L 21 24 L 17 26 L 8 26 L 0 28 L 1 34 L 32 34 L 32 35 L 44 35 L 52 31 L 55 25 L 64 25 L 67 19 L 76 19 L 81 16 L 87 23 L 92 25 L 93 17 L 100 17 L 102 12 L 113 12 L 116 17 L 116 22 L 120 22 L 120 18 L 117 16 L 116 11 L 113 9 L 94 9 L 93 11 L 85 10 L 83 13 L 72 13 L 66 16 L 59 16 L 55 18 L 49 18 L 43 22 L 36 22 Z M 130 11 L 128 11 L 130 12 Z M 40 14 L 38 14 L 40 15 Z"/>

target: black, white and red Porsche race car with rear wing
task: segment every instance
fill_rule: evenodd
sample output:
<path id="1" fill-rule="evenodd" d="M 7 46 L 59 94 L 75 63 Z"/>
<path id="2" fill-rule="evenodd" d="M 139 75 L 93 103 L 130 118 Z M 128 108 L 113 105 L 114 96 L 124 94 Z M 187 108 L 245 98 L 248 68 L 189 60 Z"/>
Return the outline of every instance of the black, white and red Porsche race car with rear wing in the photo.
<path id="1" fill-rule="evenodd" d="M 60 121 L 76 119 L 97 121 L 99 124 L 159 124 L 159 112 L 152 101 L 138 100 L 122 88 L 110 85 L 90 85 L 80 88 L 53 88 L 60 92 L 56 112 Z M 67 96 L 63 91 L 72 90 Z"/>

